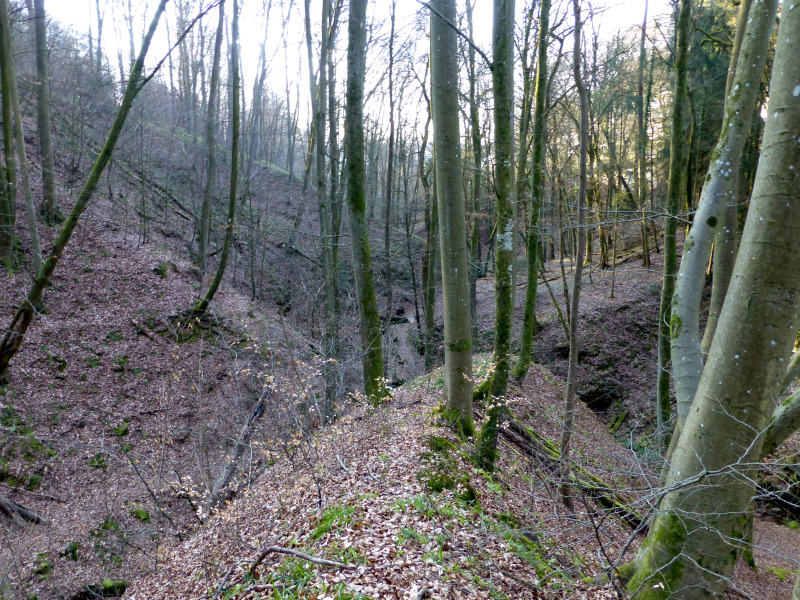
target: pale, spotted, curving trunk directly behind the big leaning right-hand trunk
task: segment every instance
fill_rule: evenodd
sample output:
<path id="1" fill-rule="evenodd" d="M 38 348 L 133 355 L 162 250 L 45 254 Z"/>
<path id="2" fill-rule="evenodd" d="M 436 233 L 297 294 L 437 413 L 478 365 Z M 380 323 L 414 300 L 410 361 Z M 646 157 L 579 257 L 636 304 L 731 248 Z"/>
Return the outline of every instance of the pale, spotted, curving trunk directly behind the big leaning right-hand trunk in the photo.
<path id="1" fill-rule="evenodd" d="M 750 10 L 741 51 L 747 60 L 741 61 L 736 69 L 733 89 L 725 102 L 722 132 L 711 155 L 700 204 L 683 246 L 670 319 L 679 423 L 689 414 L 703 371 L 699 314 L 711 242 L 720 207 L 736 193 L 731 187 L 731 175 L 741 159 L 752 123 L 777 5 L 777 0 L 764 0 Z"/>

